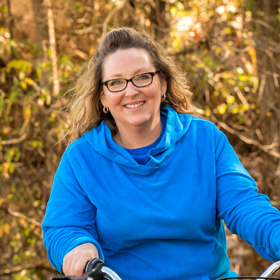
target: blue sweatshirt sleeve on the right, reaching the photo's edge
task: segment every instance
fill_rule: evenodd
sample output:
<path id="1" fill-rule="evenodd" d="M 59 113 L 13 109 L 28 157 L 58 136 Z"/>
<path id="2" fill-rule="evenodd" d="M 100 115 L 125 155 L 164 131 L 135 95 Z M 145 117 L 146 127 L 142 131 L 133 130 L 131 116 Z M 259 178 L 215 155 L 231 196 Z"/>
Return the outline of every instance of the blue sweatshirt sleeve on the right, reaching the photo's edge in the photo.
<path id="1" fill-rule="evenodd" d="M 242 166 L 226 136 L 216 132 L 218 218 L 270 261 L 280 259 L 280 212 Z"/>

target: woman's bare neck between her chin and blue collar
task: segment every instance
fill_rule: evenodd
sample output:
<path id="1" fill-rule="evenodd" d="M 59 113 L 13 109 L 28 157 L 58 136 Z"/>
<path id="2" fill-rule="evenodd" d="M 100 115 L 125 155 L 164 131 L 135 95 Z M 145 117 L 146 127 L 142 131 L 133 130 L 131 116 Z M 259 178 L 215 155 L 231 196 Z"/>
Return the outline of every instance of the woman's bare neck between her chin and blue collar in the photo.
<path id="1" fill-rule="evenodd" d="M 160 136 L 161 131 L 162 124 L 159 121 L 155 127 L 149 129 L 134 127 L 129 130 L 118 130 L 113 138 L 120 146 L 126 149 L 137 149 L 154 143 Z"/>

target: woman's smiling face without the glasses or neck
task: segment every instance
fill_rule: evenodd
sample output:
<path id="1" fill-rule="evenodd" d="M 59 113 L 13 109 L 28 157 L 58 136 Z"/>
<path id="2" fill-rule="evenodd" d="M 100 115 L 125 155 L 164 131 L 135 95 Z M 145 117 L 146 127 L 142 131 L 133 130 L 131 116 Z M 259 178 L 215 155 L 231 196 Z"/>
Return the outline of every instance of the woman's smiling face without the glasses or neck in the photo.
<path id="1" fill-rule="evenodd" d="M 106 57 L 103 64 L 103 81 L 131 79 L 135 75 L 157 70 L 146 50 L 120 49 Z M 153 129 L 160 122 L 160 103 L 165 92 L 166 82 L 160 80 L 159 75 L 155 75 L 152 84 L 141 88 L 128 82 L 126 89 L 110 92 L 104 85 L 101 102 L 110 110 L 119 133 L 136 126 Z"/>

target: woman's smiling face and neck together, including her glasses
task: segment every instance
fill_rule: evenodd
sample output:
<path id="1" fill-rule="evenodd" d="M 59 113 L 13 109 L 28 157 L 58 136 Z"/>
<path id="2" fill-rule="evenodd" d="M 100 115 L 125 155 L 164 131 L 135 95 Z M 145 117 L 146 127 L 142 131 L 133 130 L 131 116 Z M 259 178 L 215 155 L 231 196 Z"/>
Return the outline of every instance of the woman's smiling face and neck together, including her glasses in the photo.
<path id="1" fill-rule="evenodd" d="M 110 84 L 103 87 L 101 103 L 109 109 L 118 128 L 114 140 L 130 149 L 155 142 L 162 131 L 160 104 L 167 85 L 154 74 L 157 70 L 149 53 L 137 48 L 118 50 L 106 57 L 103 69 L 103 79 Z M 112 92 L 110 88 L 115 90 Z"/>

